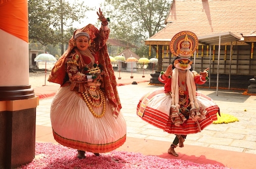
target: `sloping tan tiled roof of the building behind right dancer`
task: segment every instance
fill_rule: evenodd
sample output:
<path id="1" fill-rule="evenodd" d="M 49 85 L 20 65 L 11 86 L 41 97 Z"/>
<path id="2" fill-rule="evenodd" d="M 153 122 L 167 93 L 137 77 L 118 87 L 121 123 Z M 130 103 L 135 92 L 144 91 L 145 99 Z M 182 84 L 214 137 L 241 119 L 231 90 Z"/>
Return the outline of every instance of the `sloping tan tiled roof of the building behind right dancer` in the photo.
<path id="1" fill-rule="evenodd" d="M 198 37 L 231 32 L 239 37 L 256 33 L 256 1 L 174 0 L 167 26 L 146 41 L 170 41 L 180 31 Z"/>

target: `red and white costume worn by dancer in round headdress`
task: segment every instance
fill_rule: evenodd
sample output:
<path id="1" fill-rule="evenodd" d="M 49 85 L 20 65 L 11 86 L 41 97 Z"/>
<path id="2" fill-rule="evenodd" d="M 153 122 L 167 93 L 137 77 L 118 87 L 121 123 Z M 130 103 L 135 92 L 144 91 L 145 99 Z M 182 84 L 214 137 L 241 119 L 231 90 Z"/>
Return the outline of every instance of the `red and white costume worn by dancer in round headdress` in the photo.
<path id="1" fill-rule="evenodd" d="M 178 71 L 177 68 L 173 70 L 172 78 L 160 75 L 159 81 L 164 83 L 165 87 L 145 94 L 138 103 L 137 115 L 144 121 L 171 134 L 198 133 L 217 120 L 216 113 L 219 111 L 219 107 L 210 97 L 196 91 L 195 84 L 203 84 L 205 80 L 201 80 L 200 75 L 194 77 L 189 70 L 185 72 L 186 81 L 184 84 L 177 79 L 180 81 L 176 82 L 180 85 L 176 85 L 177 88 L 175 88 L 178 92 L 178 98 L 175 98 L 175 95 L 172 98 L 171 89 L 176 81 L 174 76 L 179 76 L 180 72 Z M 186 83 L 194 85 L 188 88 Z M 192 98 L 195 111 L 190 111 Z M 177 100 L 176 104 L 172 103 L 175 99 Z"/>

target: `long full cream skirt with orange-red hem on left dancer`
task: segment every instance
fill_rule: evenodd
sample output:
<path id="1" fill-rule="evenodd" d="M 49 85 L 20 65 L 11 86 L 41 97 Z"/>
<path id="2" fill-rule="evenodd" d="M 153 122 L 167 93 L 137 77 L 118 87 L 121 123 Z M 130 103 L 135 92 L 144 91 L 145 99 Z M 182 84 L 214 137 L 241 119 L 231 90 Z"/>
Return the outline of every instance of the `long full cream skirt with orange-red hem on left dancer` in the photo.
<path id="1" fill-rule="evenodd" d="M 102 109 L 102 106 L 93 107 L 97 115 Z M 121 112 L 115 118 L 106 100 L 104 116 L 96 118 L 83 98 L 77 92 L 70 91 L 69 86 L 61 87 L 56 93 L 50 107 L 50 120 L 55 140 L 78 150 L 109 152 L 126 140 L 126 122 Z"/>

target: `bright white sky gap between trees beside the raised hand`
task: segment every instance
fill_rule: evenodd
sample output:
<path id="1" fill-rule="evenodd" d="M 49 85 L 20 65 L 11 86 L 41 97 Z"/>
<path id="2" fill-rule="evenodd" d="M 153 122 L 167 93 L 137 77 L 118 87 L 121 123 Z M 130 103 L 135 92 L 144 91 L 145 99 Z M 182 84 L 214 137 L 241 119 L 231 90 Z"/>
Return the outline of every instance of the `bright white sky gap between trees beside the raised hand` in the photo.
<path id="1" fill-rule="evenodd" d="M 88 18 L 84 18 L 84 19 L 81 19 L 81 24 L 79 24 L 78 22 L 73 22 L 73 27 L 75 28 L 82 28 L 88 24 L 95 24 L 97 22 L 97 19 L 98 19 L 98 15 L 97 15 L 97 12 L 98 12 L 98 9 L 102 8 L 100 7 L 100 4 L 104 3 L 104 0 L 64 0 L 66 2 L 69 2 L 70 4 L 73 4 L 73 3 L 76 3 L 76 2 L 85 2 L 84 4 L 86 6 L 89 6 L 89 7 L 96 7 L 96 10 L 95 11 L 88 11 L 88 12 L 85 12 L 87 17 Z M 103 14 L 104 14 L 104 11 L 103 11 Z"/>

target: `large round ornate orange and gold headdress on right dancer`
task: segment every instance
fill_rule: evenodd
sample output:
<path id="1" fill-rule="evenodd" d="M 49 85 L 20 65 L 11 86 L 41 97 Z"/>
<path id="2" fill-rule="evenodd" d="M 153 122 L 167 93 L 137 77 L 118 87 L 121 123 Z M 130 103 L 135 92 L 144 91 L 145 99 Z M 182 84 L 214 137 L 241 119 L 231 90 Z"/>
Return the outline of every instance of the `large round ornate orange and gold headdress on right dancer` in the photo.
<path id="1" fill-rule="evenodd" d="M 197 36 L 190 31 L 182 31 L 173 36 L 170 51 L 176 57 L 189 58 L 198 45 Z"/>

